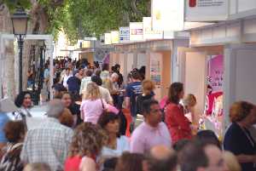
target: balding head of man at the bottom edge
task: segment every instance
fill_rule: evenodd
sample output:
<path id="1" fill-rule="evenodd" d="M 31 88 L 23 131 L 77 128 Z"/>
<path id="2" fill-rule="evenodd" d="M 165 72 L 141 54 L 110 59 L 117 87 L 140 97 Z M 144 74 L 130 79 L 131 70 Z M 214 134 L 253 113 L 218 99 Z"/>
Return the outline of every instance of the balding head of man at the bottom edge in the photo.
<path id="1" fill-rule="evenodd" d="M 177 154 L 164 145 L 154 146 L 147 159 L 148 171 L 177 171 Z"/>

